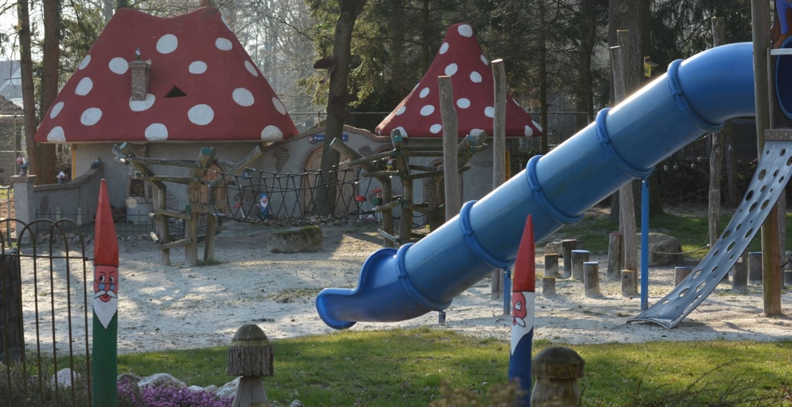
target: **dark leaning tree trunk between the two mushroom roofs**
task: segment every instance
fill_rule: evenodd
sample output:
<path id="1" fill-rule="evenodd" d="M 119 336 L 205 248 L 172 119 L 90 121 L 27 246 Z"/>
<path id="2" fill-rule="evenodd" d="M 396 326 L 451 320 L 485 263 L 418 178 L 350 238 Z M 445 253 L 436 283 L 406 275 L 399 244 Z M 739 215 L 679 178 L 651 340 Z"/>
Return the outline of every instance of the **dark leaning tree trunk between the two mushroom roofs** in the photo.
<path id="1" fill-rule="evenodd" d="M 333 74 L 330 75 L 330 89 L 327 99 L 327 121 L 325 142 L 322 149 L 322 169 L 329 169 L 338 164 L 341 155 L 330 148 L 333 139 L 341 139 L 344 131 L 344 118 L 340 117 L 348 94 L 349 63 L 352 59 L 352 31 L 355 21 L 363 11 L 366 0 L 339 0 L 340 13 L 336 21 L 333 38 Z M 318 211 L 320 215 L 333 215 L 336 201 L 336 184 L 338 177 L 334 171 L 322 173 L 322 188 L 318 190 Z"/>

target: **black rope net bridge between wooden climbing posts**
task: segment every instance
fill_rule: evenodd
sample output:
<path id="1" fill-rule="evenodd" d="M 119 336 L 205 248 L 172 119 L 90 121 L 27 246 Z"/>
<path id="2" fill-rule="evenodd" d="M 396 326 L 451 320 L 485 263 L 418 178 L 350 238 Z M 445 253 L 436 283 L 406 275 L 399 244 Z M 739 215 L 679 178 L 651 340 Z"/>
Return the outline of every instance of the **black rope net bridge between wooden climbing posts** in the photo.
<path id="1" fill-rule="evenodd" d="M 226 201 L 222 207 L 227 208 L 212 214 L 238 222 L 305 225 L 349 216 L 373 219 L 373 208 L 381 204 L 381 189 L 375 188 L 371 177 L 360 177 L 360 168 L 336 165 L 296 174 L 249 168 L 240 175 L 208 171 L 225 181 L 223 192 L 215 192 L 214 199 Z"/>

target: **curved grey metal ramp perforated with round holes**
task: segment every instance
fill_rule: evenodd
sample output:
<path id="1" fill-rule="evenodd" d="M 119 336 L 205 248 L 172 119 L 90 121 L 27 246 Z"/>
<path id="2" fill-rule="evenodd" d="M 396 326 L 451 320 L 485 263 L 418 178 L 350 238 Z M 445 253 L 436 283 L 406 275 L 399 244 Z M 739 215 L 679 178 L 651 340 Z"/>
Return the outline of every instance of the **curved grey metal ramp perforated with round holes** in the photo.
<path id="1" fill-rule="evenodd" d="M 767 140 L 764 154 L 756 169 L 748 191 L 734 213 L 729 226 L 723 230 L 710 253 L 694 268 L 687 279 L 676 286 L 659 302 L 627 322 L 654 322 L 675 328 L 707 295 L 718 287 L 729 269 L 748 247 L 760 230 L 775 201 L 792 175 L 792 141 Z"/>

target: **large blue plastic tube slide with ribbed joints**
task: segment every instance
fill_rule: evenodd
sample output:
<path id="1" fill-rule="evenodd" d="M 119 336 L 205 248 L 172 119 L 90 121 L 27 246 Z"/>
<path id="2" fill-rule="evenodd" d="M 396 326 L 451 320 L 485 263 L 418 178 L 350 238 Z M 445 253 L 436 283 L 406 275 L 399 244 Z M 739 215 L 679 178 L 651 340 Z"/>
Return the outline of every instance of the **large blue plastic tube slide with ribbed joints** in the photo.
<path id="1" fill-rule="evenodd" d="M 790 57 L 792 58 L 792 57 Z M 510 266 L 525 219 L 537 241 L 705 132 L 753 116 L 752 46 L 729 44 L 686 60 L 605 108 L 572 138 L 415 244 L 371 254 L 354 289 L 326 288 L 316 298 L 322 321 L 346 329 L 356 321 L 403 321 L 444 310 L 451 300 Z"/>

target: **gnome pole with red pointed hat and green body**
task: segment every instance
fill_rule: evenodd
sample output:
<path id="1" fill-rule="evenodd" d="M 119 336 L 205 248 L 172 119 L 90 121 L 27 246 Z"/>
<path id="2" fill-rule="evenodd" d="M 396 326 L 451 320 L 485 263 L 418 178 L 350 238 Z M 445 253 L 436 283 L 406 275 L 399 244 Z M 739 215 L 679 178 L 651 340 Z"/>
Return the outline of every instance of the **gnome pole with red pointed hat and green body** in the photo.
<path id="1" fill-rule="evenodd" d="M 118 390 L 118 240 L 105 180 L 93 231 L 93 405 L 115 407 Z"/>

